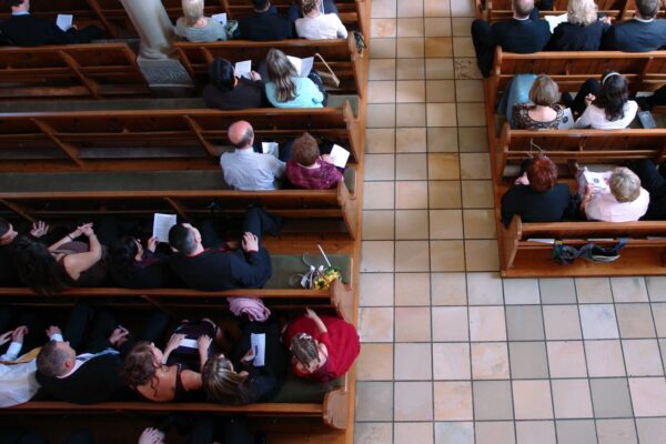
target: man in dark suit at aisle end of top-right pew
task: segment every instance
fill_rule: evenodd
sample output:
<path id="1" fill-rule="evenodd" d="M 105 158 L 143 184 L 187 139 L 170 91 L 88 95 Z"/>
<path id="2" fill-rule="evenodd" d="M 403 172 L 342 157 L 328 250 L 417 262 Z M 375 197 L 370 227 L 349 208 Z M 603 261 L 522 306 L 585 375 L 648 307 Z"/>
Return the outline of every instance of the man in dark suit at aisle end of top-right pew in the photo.
<path id="1" fill-rule="evenodd" d="M 538 18 L 534 0 L 513 0 L 513 19 L 490 26 L 476 19 L 472 22 L 472 42 L 476 50 L 476 63 L 483 77 L 491 74 L 495 47 L 503 51 L 528 54 L 538 52 L 551 40 L 548 22 Z"/>

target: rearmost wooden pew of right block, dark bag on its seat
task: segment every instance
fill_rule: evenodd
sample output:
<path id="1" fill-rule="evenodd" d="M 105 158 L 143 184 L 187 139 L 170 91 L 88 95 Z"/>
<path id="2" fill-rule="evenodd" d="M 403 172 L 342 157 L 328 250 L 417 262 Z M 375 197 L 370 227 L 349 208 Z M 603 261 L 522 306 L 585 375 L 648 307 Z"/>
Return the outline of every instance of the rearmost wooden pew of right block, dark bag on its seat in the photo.
<path id="1" fill-rule="evenodd" d="M 514 216 L 508 228 L 500 224 L 504 278 L 561 278 L 595 275 L 666 275 L 666 221 L 524 223 Z M 553 245 L 529 239 L 559 239 L 581 248 L 594 241 L 601 246 L 628 238 L 619 259 L 610 263 L 577 259 L 558 265 L 551 259 Z M 613 241 L 608 241 L 612 239 Z"/>

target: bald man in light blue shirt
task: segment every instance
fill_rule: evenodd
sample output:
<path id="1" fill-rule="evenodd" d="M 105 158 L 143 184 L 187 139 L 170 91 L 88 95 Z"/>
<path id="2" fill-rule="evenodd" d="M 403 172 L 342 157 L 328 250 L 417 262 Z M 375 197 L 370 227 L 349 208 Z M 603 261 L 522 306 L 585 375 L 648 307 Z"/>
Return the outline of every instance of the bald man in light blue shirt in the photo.
<path id="1" fill-rule="evenodd" d="M 224 181 L 243 191 L 275 190 L 276 180 L 284 176 L 285 163 L 271 154 L 254 152 L 254 131 L 244 120 L 229 127 L 229 141 L 235 151 L 220 157 Z"/>

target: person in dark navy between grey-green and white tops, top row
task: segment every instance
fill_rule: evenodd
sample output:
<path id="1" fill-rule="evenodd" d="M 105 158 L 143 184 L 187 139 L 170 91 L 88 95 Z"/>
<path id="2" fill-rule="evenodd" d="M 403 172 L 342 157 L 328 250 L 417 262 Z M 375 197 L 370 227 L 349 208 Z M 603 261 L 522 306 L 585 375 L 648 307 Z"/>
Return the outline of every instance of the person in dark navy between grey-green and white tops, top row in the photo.
<path id="1" fill-rule="evenodd" d="M 239 19 L 241 39 L 268 41 L 293 39 L 293 24 L 280 17 L 270 0 L 252 0 L 254 13 Z"/>

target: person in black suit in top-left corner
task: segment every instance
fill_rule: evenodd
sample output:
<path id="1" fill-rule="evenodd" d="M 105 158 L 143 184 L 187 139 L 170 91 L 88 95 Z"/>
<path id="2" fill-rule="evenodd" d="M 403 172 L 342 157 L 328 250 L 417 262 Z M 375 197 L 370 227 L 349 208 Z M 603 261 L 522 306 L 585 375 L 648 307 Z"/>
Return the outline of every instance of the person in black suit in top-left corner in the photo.
<path id="1" fill-rule="evenodd" d="M 11 7 L 11 18 L 0 23 L 0 39 L 6 44 L 37 47 L 40 44 L 89 43 L 99 38 L 102 30 L 95 26 L 67 31 L 49 20 L 30 14 L 30 0 L 4 0 Z"/>

